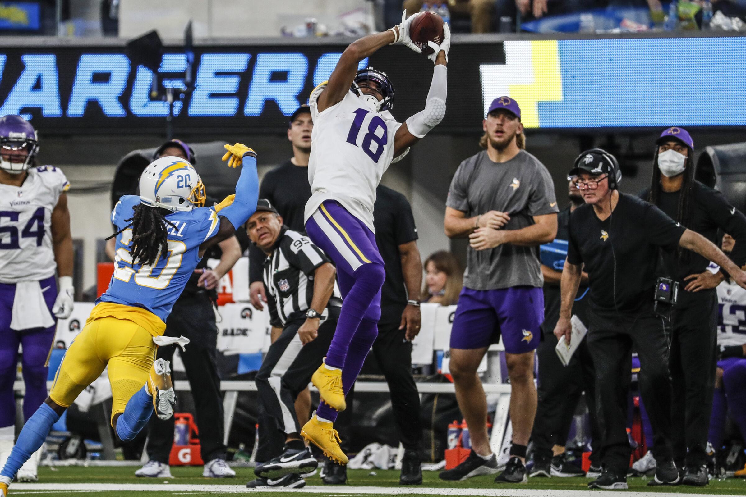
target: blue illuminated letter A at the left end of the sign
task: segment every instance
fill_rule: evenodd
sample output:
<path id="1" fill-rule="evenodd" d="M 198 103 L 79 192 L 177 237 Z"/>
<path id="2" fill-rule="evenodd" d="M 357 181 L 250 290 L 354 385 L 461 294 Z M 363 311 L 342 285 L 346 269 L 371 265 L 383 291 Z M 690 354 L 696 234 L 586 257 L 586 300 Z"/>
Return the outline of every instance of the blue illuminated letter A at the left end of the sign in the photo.
<path id="1" fill-rule="evenodd" d="M 40 107 L 44 117 L 60 117 L 60 88 L 57 83 L 57 57 L 54 55 L 23 55 L 25 67 L 16 85 L 10 90 L 0 115 L 20 114 L 26 107 Z M 3 65 L 5 56 L 3 55 Z M 34 89 L 39 83 L 39 88 Z"/>

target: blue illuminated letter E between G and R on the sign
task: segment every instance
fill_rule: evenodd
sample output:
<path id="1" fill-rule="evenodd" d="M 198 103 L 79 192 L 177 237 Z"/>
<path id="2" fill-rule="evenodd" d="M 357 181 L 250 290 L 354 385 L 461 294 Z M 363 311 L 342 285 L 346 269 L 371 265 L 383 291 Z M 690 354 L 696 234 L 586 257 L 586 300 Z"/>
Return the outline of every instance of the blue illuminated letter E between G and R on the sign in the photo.
<path id="1" fill-rule="evenodd" d="M 213 93 L 235 93 L 241 77 L 219 72 L 245 72 L 249 54 L 203 54 L 195 78 L 189 115 L 235 115 L 238 97 L 213 97 Z"/>

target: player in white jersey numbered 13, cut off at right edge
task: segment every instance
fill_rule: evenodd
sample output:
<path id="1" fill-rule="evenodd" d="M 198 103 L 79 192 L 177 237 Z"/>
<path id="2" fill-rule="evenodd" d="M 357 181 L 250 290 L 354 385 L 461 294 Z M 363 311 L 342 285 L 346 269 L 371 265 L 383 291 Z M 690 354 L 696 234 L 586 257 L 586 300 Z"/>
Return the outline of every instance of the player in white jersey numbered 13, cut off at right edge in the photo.
<path id="1" fill-rule="evenodd" d="M 730 252 L 734 244 L 733 237 L 723 236 L 723 252 Z M 746 437 L 746 290 L 730 279 L 716 290 L 719 354 L 708 440 L 719 451 L 729 411 L 741 436 Z M 746 476 L 746 466 L 736 476 Z"/>

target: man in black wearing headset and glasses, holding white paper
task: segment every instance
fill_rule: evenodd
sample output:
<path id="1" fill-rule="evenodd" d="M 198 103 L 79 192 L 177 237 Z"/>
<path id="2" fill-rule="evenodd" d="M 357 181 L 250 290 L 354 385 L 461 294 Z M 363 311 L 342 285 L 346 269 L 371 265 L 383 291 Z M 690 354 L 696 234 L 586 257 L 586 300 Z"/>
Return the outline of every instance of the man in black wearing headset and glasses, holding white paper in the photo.
<path id="1" fill-rule="evenodd" d="M 675 285 L 656 282 L 659 247 L 683 247 L 728 271 L 746 288 L 746 273 L 715 244 L 673 221 L 656 206 L 618 191 L 621 171 L 614 156 L 600 148 L 575 159 L 571 175 L 586 205 L 570 215 L 568 256 L 562 270 L 560 320 L 554 335 L 570 341 L 572 305 L 583 270 L 588 273 L 589 351 L 596 368 L 599 419 L 604 420 L 601 458 L 604 472 L 589 483 L 604 490 L 627 488 L 627 390 L 632 347 L 639 355 L 640 391 L 653 425 L 656 475 L 649 485 L 680 482 L 671 449 L 671 383 L 665 320 L 654 299 L 674 300 Z"/>

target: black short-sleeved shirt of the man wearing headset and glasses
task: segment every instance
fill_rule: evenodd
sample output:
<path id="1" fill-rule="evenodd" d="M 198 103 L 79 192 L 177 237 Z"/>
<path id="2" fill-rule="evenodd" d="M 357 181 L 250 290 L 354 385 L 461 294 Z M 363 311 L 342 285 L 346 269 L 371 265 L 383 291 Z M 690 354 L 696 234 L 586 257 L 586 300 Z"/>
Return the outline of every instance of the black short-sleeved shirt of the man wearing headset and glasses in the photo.
<path id="1" fill-rule="evenodd" d="M 601 221 L 586 204 L 570 215 L 567 260 L 584 264 L 594 311 L 651 311 L 659 247 L 675 250 L 685 227 L 651 203 L 620 193 Z"/>

